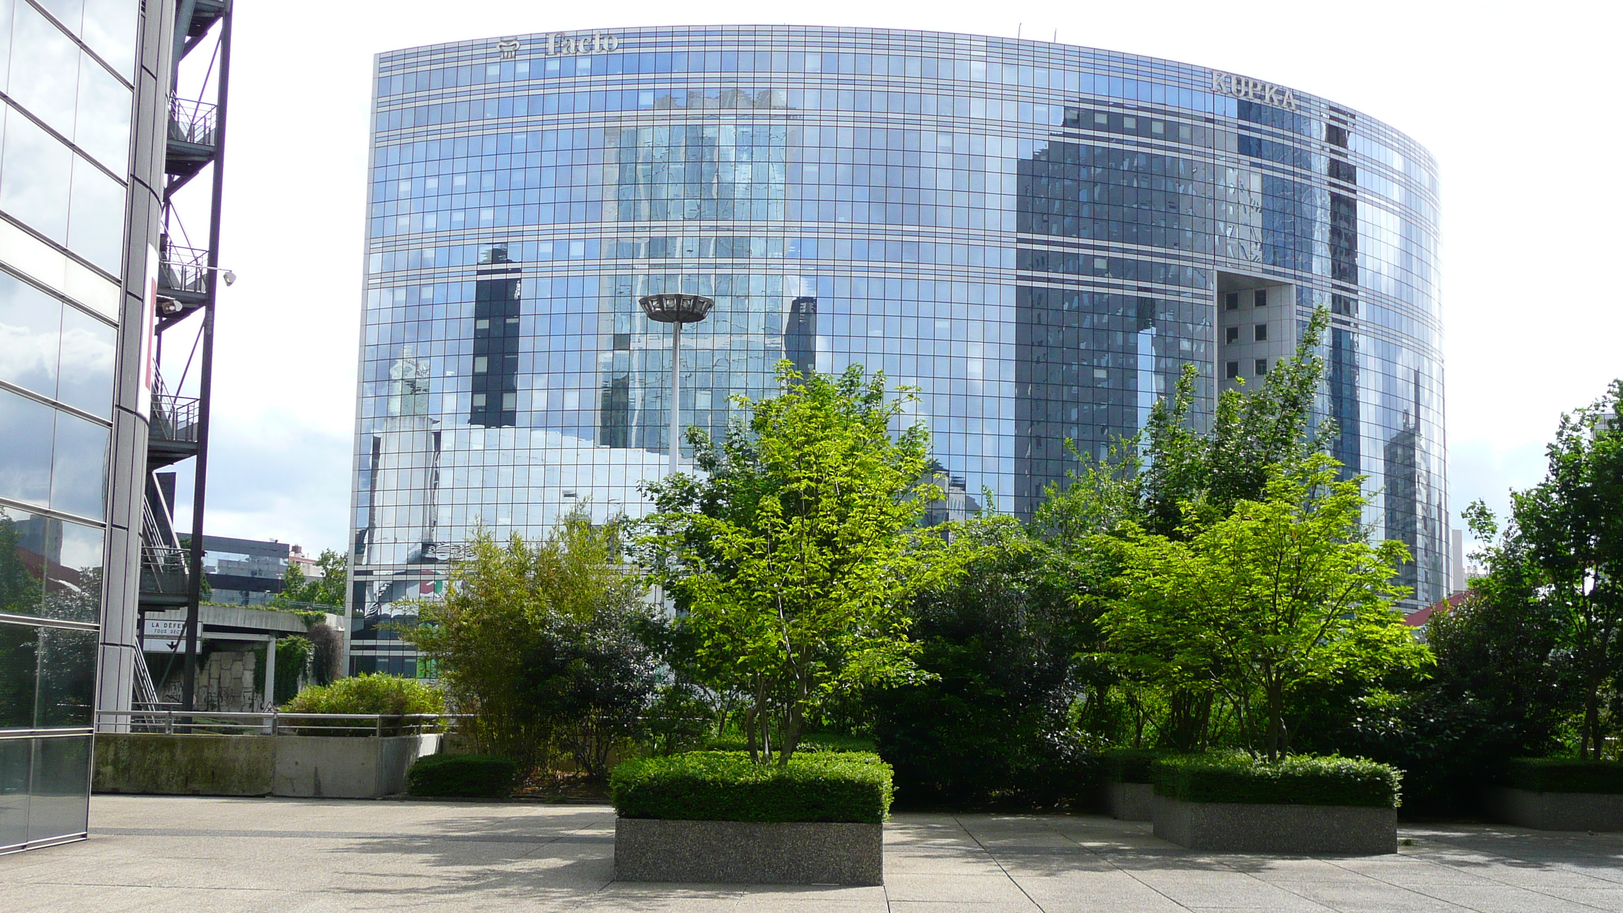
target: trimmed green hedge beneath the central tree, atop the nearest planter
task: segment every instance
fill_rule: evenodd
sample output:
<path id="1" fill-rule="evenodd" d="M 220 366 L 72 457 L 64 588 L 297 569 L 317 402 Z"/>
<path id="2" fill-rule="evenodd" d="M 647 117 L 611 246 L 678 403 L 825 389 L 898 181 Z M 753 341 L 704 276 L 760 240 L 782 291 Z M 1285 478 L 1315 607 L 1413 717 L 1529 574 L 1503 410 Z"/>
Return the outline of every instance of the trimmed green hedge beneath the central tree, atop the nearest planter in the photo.
<path id="1" fill-rule="evenodd" d="M 880 824 L 891 811 L 891 765 L 868 752 L 795 754 L 777 767 L 695 751 L 628 760 L 609 790 L 620 817 Z"/>

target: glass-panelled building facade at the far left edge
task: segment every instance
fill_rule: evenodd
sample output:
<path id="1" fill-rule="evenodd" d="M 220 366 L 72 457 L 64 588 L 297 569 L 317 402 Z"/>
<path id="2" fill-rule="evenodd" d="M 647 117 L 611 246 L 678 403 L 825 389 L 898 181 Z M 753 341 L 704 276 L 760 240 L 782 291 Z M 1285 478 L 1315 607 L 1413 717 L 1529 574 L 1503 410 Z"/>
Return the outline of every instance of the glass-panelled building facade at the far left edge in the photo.
<path id="1" fill-rule="evenodd" d="M 84 838 L 102 619 L 136 598 L 172 18 L 0 0 L 0 853 Z"/>

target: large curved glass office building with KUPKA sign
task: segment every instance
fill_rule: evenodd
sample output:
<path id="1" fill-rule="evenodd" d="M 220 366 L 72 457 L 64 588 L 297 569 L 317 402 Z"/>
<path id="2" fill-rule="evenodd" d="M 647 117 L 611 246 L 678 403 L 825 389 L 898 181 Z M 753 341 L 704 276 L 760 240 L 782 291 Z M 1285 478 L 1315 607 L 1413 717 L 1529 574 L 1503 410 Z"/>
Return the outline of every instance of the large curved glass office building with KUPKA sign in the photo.
<path id="1" fill-rule="evenodd" d="M 1183 364 L 1255 383 L 1323 307 L 1334 455 L 1444 595 L 1431 156 L 1295 88 L 925 31 L 503 36 L 383 54 L 367 252 L 352 668 L 476 525 L 641 510 L 683 424 L 789 357 L 922 390 L 951 510 L 1029 513 L 1065 439 L 1131 435 Z"/>

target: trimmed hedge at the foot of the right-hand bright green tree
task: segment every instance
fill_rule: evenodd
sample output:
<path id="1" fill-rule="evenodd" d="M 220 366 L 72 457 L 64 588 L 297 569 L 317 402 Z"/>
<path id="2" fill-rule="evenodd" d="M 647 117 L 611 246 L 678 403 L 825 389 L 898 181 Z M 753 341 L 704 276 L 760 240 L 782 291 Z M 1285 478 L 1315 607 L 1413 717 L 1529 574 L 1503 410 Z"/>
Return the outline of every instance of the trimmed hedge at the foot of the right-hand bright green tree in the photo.
<path id="1" fill-rule="evenodd" d="M 1401 804 L 1402 772 L 1352 757 L 1294 755 L 1276 764 L 1246 755 L 1182 755 L 1154 762 L 1156 794 L 1185 803 L 1264 806 Z"/>

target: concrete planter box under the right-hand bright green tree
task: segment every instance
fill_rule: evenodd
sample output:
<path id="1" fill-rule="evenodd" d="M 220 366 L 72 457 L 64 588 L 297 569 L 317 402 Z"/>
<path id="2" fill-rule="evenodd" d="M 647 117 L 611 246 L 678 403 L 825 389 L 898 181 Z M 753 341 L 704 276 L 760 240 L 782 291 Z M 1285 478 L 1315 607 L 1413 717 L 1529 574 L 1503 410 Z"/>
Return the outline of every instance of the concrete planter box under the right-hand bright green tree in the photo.
<path id="1" fill-rule="evenodd" d="M 1397 809 L 1183 803 L 1154 796 L 1156 837 L 1220 853 L 1397 851 Z"/>

